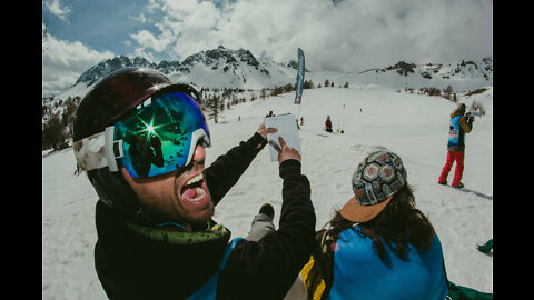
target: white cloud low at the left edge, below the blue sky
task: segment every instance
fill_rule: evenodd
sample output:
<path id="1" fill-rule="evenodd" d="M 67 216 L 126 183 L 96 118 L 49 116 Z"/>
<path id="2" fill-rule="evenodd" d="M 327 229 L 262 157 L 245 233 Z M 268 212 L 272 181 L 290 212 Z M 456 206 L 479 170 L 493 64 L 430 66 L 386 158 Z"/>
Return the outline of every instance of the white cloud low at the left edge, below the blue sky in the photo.
<path id="1" fill-rule="evenodd" d="M 68 90 L 82 72 L 112 57 L 110 51 L 98 52 L 80 41 L 68 42 L 50 36 L 43 43 L 42 94 Z"/>

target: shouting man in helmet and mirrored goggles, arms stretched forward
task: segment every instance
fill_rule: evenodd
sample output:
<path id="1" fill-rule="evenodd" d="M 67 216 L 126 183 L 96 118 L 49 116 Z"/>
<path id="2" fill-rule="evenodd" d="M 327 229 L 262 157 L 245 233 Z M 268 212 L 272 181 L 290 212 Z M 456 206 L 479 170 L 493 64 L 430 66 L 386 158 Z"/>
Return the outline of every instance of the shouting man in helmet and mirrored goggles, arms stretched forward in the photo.
<path id="1" fill-rule="evenodd" d="M 211 137 L 188 84 L 128 68 L 99 81 L 73 123 L 75 154 L 100 200 L 95 264 L 110 299 L 281 299 L 314 242 L 310 187 L 285 146 L 279 230 L 230 240 L 215 206 L 266 144 L 261 123 L 205 168 Z"/>

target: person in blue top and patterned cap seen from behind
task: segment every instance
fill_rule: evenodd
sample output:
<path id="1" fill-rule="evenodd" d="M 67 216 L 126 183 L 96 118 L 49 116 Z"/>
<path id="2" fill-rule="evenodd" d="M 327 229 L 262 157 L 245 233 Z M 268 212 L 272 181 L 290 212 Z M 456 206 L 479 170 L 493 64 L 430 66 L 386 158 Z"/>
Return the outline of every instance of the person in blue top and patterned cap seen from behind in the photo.
<path id="1" fill-rule="evenodd" d="M 400 157 L 370 153 L 352 186 L 301 270 L 308 299 L 445 299 L 442 244 L 415 208 Z"/>

